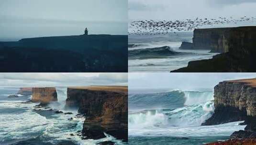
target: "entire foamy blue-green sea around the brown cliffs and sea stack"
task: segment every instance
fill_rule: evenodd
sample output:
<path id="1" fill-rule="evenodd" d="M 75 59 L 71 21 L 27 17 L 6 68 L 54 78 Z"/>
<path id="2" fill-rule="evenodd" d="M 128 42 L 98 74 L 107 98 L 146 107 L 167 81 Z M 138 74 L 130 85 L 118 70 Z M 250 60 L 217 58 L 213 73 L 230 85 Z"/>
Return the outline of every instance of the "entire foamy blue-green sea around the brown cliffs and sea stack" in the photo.
<path id="1" fill-rule="evenodd" d="M 56 87 L 58 103 L 47 108 L 34 108 L 39 103 L 27 103 L 31 96 L 8 98 L 18 90 L 0 88 L 0 145 L 96 145 L 104 141 L 123 145 L 122 141 L 107 134 L 99 140 L 82 140 L 77 135 L 82 130 L 85 117 L 74 117 L 77 110 L 64 109 L 67 88 Z M 56 110 L 73 114 L 56 114 Z M 73 119 L 68 120 L 71 117 Z"/>

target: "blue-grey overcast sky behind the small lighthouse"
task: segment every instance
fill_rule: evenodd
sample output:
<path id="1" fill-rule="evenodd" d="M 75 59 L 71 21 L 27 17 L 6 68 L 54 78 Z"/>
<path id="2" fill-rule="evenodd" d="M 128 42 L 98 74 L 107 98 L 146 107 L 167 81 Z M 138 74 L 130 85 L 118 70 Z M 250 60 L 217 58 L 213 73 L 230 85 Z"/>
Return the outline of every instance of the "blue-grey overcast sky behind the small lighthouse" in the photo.
<path id="1" fill-rule="evenodd" d="M 0 41 L 26 37 L 127 34 L 127 0 L 0 0 Z"/>

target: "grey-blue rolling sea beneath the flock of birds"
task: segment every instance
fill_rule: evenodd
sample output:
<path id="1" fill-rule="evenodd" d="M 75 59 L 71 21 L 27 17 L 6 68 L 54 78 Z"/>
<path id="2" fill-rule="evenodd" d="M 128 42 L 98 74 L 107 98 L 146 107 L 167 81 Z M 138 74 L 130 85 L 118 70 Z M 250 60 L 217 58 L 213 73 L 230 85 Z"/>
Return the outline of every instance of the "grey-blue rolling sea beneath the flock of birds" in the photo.
<path id="1" fill-rule="evenodd" d="M 180 50 L 181 42 L 192 42 L 192 37 L 192 32 L 176 32 L 167 35 L 129 34 L 129 72 L 170 72 L 186 67 L 190 61 L 210 59 L 218 54 L 210 53 L 210 50 Z M 168 49 L 159 49 L 165 46 Z M 146 55 L 147 52 L 151 54 Z M 137 57 L 134 57 L 135 55 Z"/>

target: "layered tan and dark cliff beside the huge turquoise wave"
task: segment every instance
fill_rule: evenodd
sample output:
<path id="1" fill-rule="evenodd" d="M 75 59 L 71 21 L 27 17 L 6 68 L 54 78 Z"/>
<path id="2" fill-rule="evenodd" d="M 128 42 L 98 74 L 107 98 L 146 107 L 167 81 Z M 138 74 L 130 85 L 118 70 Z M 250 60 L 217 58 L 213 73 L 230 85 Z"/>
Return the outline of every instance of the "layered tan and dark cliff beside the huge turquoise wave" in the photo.
<path id="1" fill-rule="evenodd" d="M 256 79 L 220 82 L 214 87 L 214 114 L 202 125 L 243 121 L 245 131 L 231 138 L 247 138 L 256 133 Z"/>

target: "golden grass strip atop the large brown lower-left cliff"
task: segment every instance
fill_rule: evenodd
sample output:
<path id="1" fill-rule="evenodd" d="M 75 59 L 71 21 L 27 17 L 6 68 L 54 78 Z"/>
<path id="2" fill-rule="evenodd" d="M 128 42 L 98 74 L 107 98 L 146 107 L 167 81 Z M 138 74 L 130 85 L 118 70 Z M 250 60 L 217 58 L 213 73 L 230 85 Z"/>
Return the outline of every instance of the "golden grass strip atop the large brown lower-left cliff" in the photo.
<path id="1" fill-rule="evenodd" d="M 112 92 L 128 92 L 128 86 L 76 86 L 76 87 L 68 87 L 70 89 L 84 89 L 84 90 L 92 90 L 92 91 L 112 91 Z"/>

